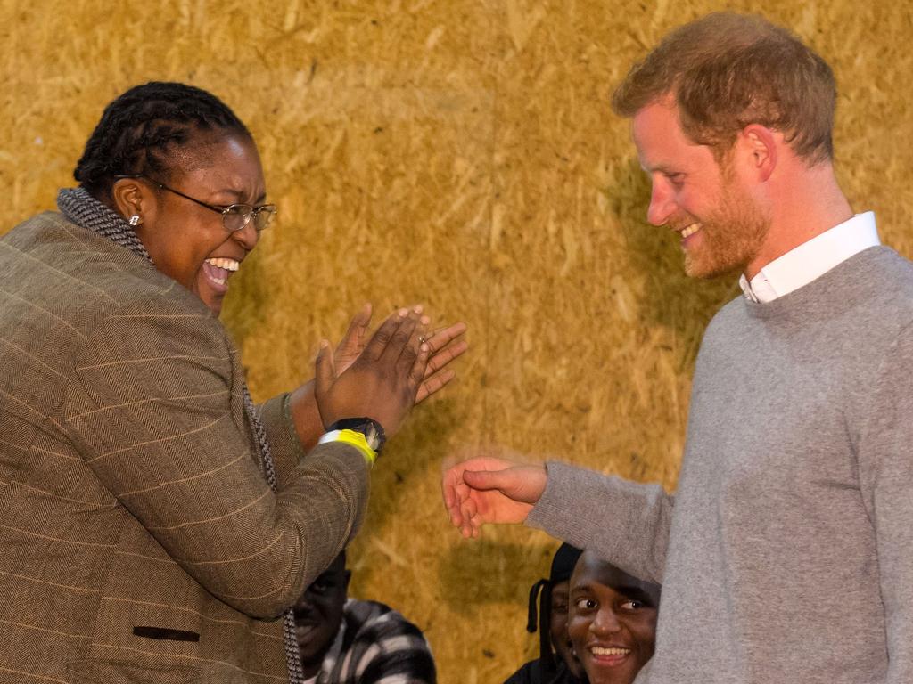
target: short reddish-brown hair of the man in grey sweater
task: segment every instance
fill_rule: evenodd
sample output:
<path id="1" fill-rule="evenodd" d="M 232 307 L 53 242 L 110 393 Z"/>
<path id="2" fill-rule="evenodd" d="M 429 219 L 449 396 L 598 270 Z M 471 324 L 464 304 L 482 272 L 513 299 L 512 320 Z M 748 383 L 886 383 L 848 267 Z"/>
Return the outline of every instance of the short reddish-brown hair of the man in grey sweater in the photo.
<path id="1" fill-rule="evenodd" d="M 718 157 L 751 123 L 781 132 L 809 165 L 833 155 L 834 72 L 760 16 L 721 12 L 680 26 L 631 67 L 612 107 L 630 118 L 669 96 L 682 130 Z"/>

